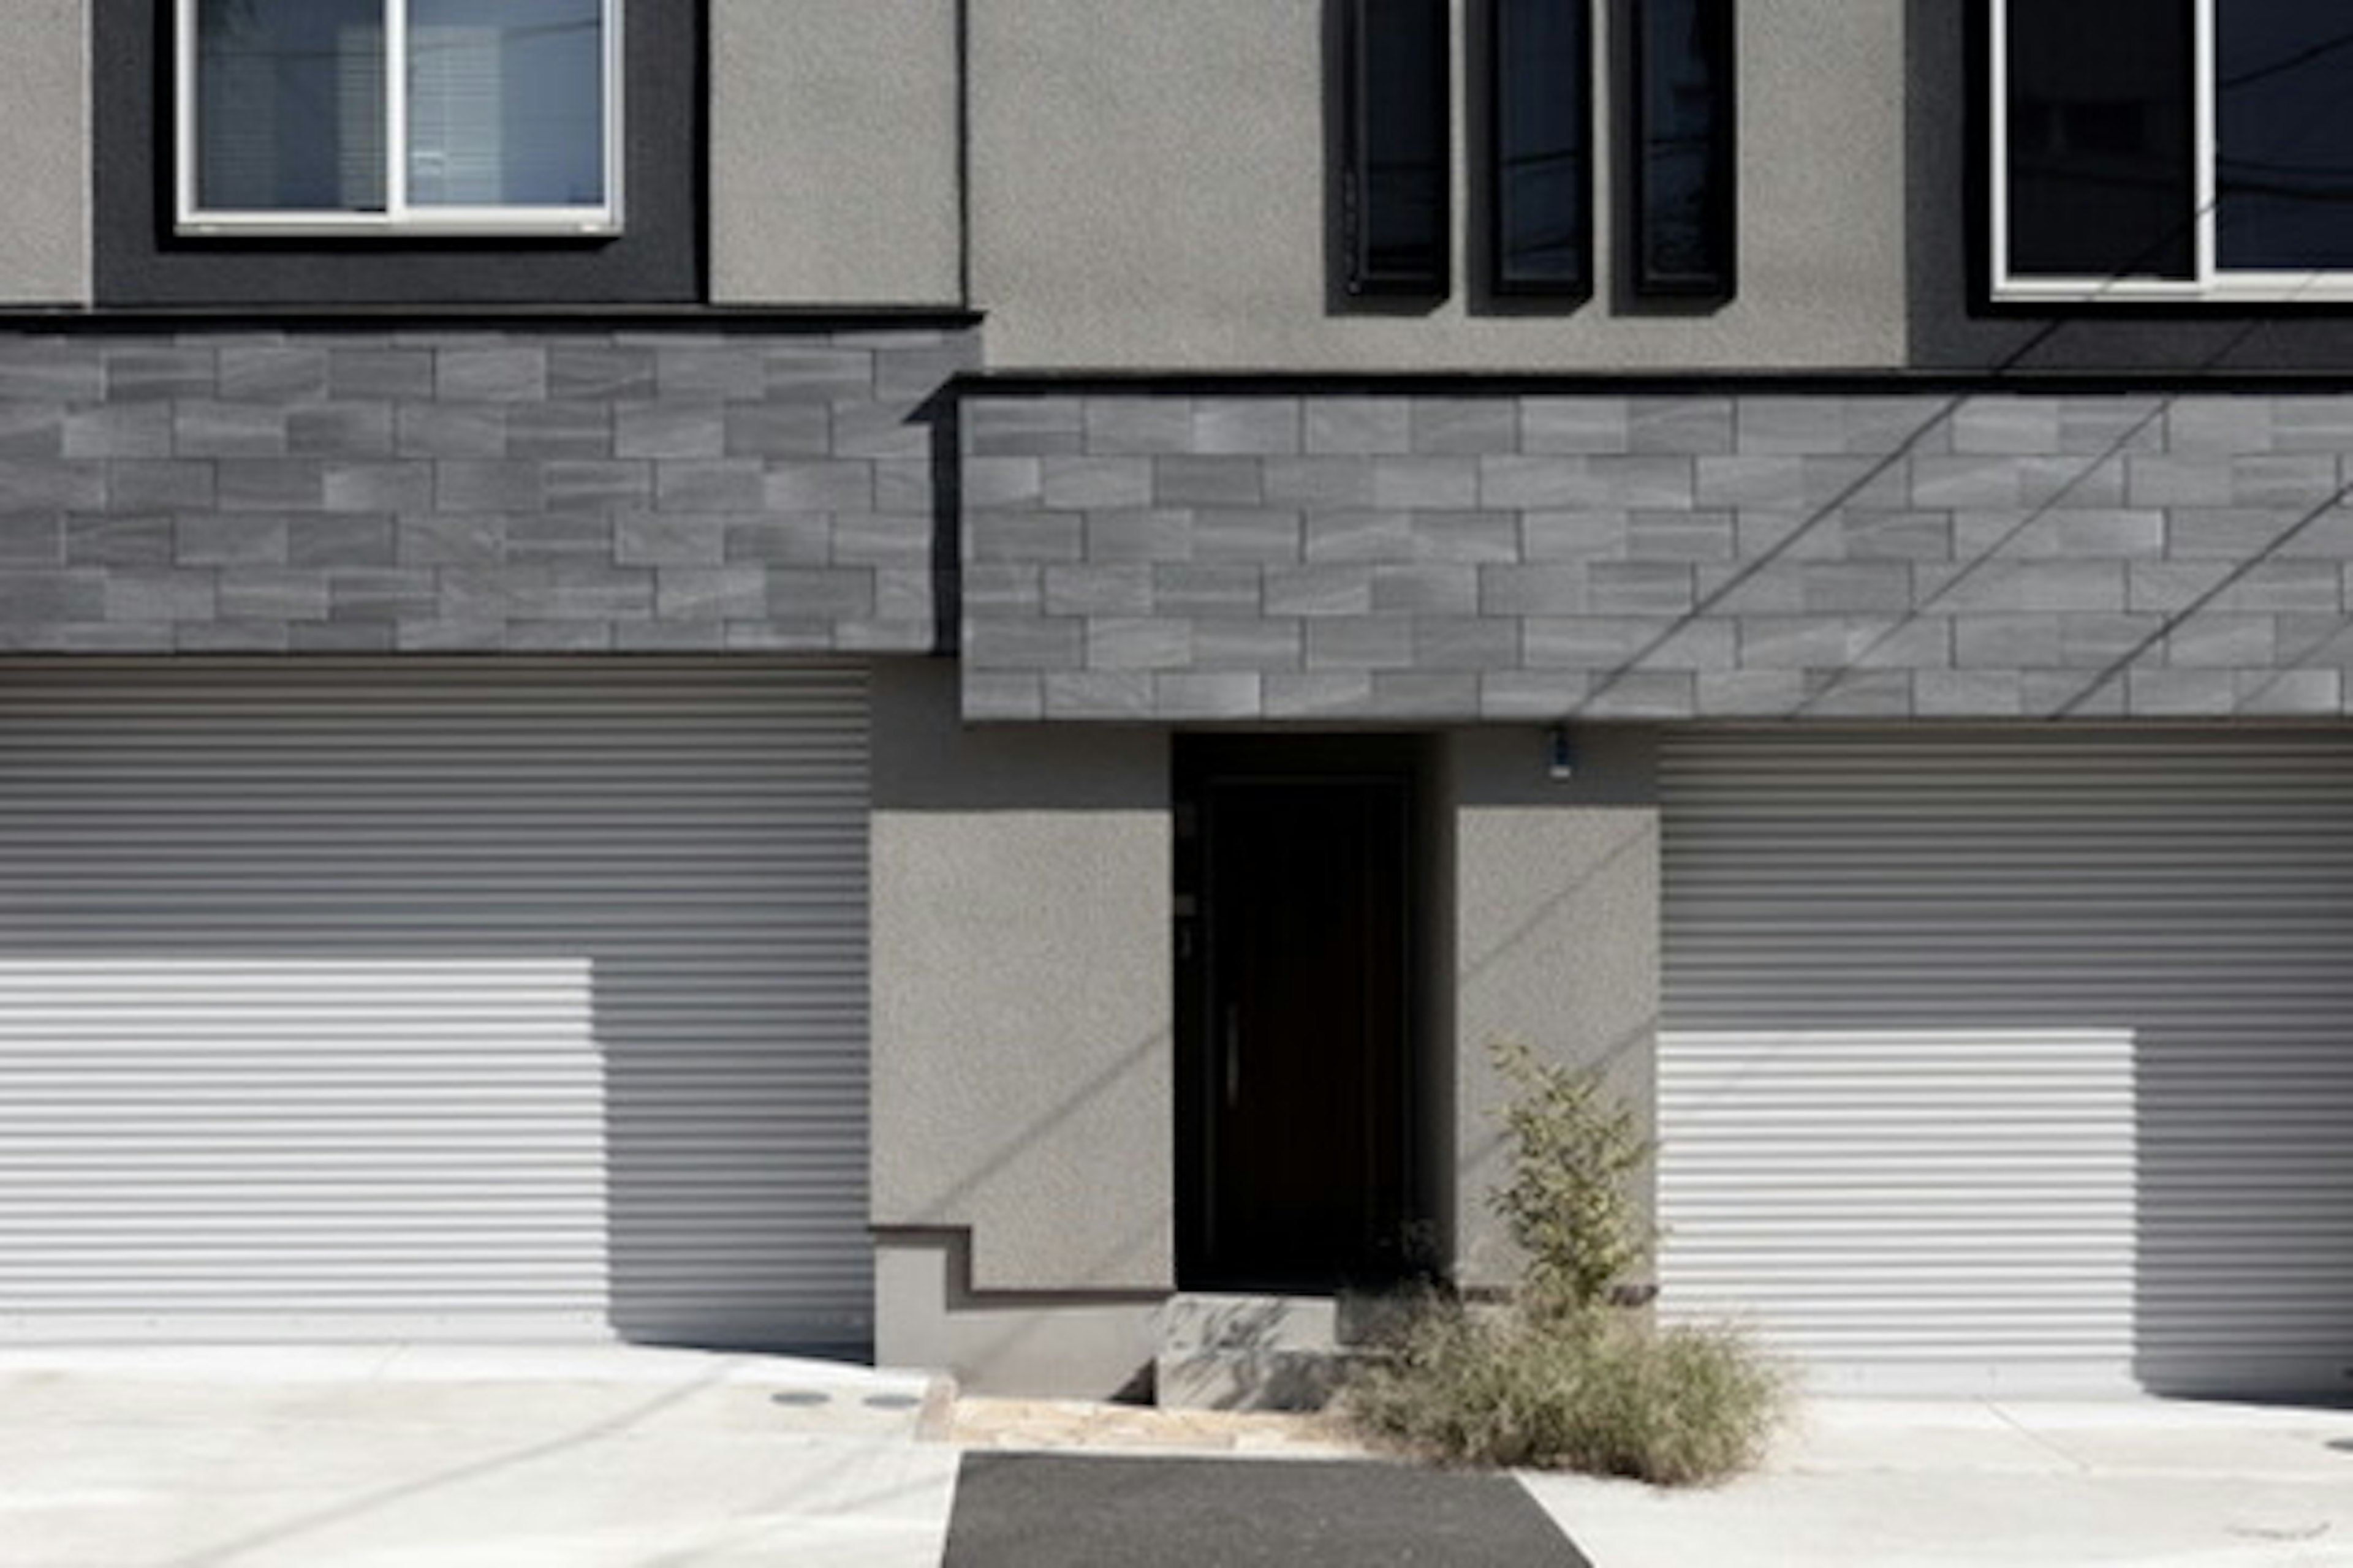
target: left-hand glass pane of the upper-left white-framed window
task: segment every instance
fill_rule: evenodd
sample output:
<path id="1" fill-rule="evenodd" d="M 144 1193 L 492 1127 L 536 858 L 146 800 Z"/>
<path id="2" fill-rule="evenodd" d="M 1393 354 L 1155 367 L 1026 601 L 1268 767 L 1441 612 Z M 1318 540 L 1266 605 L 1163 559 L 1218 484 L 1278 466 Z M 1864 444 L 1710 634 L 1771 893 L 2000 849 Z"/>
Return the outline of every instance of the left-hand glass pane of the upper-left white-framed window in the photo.
<path id="1" fill-rule="evenodd" d="M 384 209 L 384 0 L 198 0 L 195 200 Z"/>

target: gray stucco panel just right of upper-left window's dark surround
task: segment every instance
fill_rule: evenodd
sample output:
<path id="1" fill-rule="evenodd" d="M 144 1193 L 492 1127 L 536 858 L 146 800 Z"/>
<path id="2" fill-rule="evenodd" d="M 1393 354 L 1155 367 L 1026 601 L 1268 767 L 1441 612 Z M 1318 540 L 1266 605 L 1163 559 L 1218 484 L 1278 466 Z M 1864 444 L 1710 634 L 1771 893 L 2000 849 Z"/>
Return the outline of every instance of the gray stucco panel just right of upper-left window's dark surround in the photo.
<path id="1" fill-rule="evenodd" d="M 946 0 L 713 0 L 711 301 L 962 294 Z"/>

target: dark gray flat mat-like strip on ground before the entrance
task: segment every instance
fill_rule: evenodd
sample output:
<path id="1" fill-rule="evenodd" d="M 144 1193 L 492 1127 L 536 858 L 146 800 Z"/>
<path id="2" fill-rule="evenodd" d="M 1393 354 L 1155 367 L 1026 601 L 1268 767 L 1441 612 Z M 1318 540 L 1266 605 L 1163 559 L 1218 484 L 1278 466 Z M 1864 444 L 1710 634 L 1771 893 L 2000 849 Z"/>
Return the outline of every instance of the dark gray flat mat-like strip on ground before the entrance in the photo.
<path id="1" fill-rule="evenodd" d="M 1593 1568 L 1511 1476 L 967 1453 L 944 1568 Z"/>

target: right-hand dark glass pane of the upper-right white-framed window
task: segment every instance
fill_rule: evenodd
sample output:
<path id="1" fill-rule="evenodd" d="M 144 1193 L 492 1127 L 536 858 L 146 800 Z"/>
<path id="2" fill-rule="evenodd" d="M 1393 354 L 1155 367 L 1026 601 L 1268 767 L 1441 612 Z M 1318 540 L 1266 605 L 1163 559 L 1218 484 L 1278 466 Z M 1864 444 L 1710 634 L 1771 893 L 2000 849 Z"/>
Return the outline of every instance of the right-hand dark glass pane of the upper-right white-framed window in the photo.
<path id="1" fill-rule="evenodd" d="M 2221 268 L 2353 268 L 2353 7 L 2217 5 L 2214 141 Z"/>

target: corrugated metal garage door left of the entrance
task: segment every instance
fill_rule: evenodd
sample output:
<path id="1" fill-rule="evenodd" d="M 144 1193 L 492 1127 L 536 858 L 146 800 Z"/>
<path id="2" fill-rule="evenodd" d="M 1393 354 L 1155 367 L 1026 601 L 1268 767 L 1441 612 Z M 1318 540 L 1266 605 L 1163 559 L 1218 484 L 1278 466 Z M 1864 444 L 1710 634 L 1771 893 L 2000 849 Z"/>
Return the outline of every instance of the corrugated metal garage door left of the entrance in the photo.
<path id="1" fill-rule="evenodd" d="M 0 665 L 0 1333 L 856 1342 L 854 668 Z"/>

